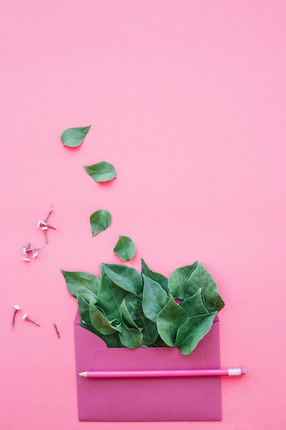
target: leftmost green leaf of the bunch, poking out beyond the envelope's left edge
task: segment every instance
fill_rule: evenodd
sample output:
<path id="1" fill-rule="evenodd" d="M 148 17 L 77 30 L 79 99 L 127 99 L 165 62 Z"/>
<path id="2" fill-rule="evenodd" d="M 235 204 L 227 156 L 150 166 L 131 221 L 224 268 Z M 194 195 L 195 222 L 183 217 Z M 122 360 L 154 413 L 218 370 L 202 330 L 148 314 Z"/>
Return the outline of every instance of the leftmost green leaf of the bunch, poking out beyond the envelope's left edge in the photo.
<path id="1" fill-rule="evenodd" d="M 69 293 L 76 297 L 81 295 L 86 301 L 90 299 L 97 302 L 97 293 L 99 290 L 99 279 L 97 276 L 87 272 L 67 272 L 61 270 L 67 284 Z"/>

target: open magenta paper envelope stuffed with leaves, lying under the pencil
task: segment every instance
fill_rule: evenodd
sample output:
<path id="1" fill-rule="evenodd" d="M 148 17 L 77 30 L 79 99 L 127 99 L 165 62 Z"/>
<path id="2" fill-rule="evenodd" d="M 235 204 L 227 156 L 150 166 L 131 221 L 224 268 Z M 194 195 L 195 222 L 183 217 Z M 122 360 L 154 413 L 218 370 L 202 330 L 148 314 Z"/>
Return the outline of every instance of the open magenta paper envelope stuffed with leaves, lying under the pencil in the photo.
<path id="1" fill-rule="evenodd" d="M 197 348 L 184 356 L 177 348 L 107 348 L 74 321 L 76 372 L 86 370 L 180 370 L 220 367 L 219 319 Z M 76 376 L 80 421 L 222 420 L 220 376 L 110 378 Z"/>

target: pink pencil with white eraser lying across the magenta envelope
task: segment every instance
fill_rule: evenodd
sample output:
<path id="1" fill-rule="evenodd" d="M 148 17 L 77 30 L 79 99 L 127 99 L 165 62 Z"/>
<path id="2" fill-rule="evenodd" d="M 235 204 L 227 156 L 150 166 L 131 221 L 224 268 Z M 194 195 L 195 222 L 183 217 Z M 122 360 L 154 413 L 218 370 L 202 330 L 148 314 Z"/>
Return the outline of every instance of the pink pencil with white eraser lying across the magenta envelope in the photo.
<path id="1" fill-rule="evenodd" d="M 186 370 L 96 370 L 80 372 L 84 378 L 178 378 L 188 376 L 241 376 L 246 369 L 186 369 Z"/>

